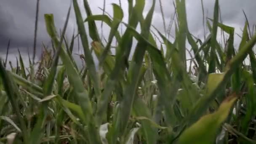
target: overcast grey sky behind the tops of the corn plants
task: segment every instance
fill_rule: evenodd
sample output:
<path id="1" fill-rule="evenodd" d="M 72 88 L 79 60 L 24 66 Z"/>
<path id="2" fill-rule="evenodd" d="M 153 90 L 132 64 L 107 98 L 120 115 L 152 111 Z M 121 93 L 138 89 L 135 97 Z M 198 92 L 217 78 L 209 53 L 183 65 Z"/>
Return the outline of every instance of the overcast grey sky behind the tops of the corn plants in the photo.
<path id="1" fill-rule="evenodd" d="M 80 9 L 85 18 L 85 11 L 83 8 L 83 0 L 78 0 L 80 3 Z M 88 0 L 93 14 L 101 14 L 102 11 L 98 8 L 103 8 L 104 0 Z M 152 5 L 152 0 L 145 0 L 146 6 L 144 14 L 147 13 Z M 173 0 L 161 0 L 163 5 L 163 11 L 166 20 L 166 26 L 168 26 L 171 16 L 174 13 Z M 111 3 L 119 4 L 119 0 L 106 0 L 106 11 L 112 14 Z M 121 0 L 122 8 L 124 11 L 125 22 L 127 21 L 128 8 L 127 0 Z M 224 24 L 235 27 L 236 32 L 240 33 L 245 23 L 245 17 L 243 10 L 247 14 L 250 24 L 256 24 L 256 0 L 219 0 L 221 8 L 221 17 Z M 70 4 L 70 0 L 40 0 L 39 9 L 39 22 L 38 22 L 38 37 L 37 37 L 37 59 L 41 53 L 41 45 L 44 42 L 49 44 L 49 37 L 46 33 L 44 23 L 44 13 L 53 13 L 55 18 L 55 24 L 58 28 L 62 28 L 67 15 L 67 10 Z M 203 0 L 205 8 L 205 16 L 213 17 L 214 0 Z M 203 37 L 203 23 L 202 23 L 202 7 L 201 0 L 186 0 L 187 20 L 189 24 L 189 30 L 195 36 Z M 36 0 L 1 0 L 0 3 L 0 56 L 5 58 L 6 47 L 8 40 L 11 39 L 10 55 L 8 61 L 13 61 L 17 54 L 17 49 L 21 50 L 25 63 L 27 63 L 27 49 L 32 50 L 34 27 L 35 27 L 35 12 L 36 12 Z M 71 38 L 73 29 L 75 27 L 75 15 L 72 9 L 67 35 Z M 164 32 L 163 21 L 160 13 L 159 0 L 155 8 L 152 24 L 156 26 L 161 32 Z M 100 23 L 97 23 L 100 27 Z M 99 30 L 101 32 L 101 30 Z M 109 29 L 104 26 L 103 34 L 107 37 Z M 239 41 L 239 37 L 235 37 L 235 40 Z M 237 43 L 235 44 L 237 45 Z M 32 51 L 30 52 L 32 53 Z M 75 53 L 81 53 L 75 48 Z M 77 58 L 78 59 L 78 58 Z"/>

